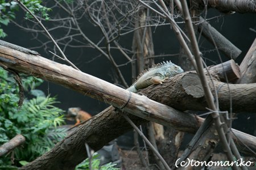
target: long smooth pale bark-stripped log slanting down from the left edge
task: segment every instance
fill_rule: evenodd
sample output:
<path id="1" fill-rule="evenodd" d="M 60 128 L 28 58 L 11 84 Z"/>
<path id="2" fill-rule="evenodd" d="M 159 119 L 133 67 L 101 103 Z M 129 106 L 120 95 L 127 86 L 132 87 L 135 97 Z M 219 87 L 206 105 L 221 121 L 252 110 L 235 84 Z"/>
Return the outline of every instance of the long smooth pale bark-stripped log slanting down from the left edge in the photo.
<path id="1" fill-rule="evenodd" d="M 0 45 L 0 66 L 59 84 L 116 108 L 121 108 L 130 98 L 129 103 L 123 109 L 124 111 L 164 126 L 173 126 L 173 128 L 176 126 L 176 129 L 180 131 L 196 133 L 196 129 L 192 128 L 197 123 L 197 120 L 191 121 L 193 115 L 177 111 L 145 96 L 134 93 L 131 93 L 130 96 L 129 91 L 92 75 L 77 71 L 71 66 L 41 56 L 19 52 L 2 45 Z M 171 119 L 169 117 L 170 112 L 173 115 Z M 183 117 L 185 126 L 176 124 L 181 117 Z"/>

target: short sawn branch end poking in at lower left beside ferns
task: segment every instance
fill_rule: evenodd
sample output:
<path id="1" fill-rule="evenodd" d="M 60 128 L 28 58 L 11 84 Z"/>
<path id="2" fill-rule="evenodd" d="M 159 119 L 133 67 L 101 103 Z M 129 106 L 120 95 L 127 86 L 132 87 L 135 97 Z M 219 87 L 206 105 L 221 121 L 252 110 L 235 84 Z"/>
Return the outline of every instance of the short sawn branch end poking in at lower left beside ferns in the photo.
<path id="1" fill-rule="evenodd" d="M 14 150 L 15 147 L 22 145 L 25 141 L 26 139 L 23 135 L 16 135 L 13 139 L 0 146 L 0 156 Z"/>

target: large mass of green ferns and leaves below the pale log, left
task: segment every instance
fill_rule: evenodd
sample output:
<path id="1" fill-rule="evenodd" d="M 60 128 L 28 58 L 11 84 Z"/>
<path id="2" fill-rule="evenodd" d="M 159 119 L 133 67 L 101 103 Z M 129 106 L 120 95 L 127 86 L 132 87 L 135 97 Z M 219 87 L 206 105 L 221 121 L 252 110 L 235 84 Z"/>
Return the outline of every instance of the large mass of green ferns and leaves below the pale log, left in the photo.
<path id="1" fill-rule="evenodd" d="M 25 90 L 31 90 L 42 82 L 40 79 L 28 77 L 23 86 Z M 31 100 L 24 100 L 18 112 L 18 91 L 18 85 L 13 78 L 0 69 L 0 145 L 14 138 L 16 134 L 22 134 L 26 138 L 22 147 L 14 149 L 15 165 L 19 166 L 18 162 L 31 162 L 49 151 L 66 134 L 64 129 L 56 129 L 57 125 L 64 123 L 64 111 L 53 106 L 57 103 L 56 97 L 39 95 Z M 3 166 L 11 165 L 10 156 L 11 154 L 0 158 L 0 169 L 7 169 Z"/>

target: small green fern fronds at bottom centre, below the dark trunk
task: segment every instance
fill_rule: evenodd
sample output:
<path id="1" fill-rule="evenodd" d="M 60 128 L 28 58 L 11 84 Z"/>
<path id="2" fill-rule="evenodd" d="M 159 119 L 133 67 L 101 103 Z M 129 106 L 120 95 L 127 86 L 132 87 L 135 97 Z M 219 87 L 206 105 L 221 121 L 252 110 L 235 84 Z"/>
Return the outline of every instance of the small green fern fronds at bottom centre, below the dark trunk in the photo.
<path id="1" fill-rule="evenodd" d="M 99 169 L 100 159 L 96 159 L 98 156 L 100 155 L 97 155 L 97 152 L 93 154 L 92 169 Z M 75 170 L 89 169 L 89 161 L 90 161 L 89 158 L 85 159 L 82 163 L 76 166 Z M 100 169 L 102 170 L 119 170 L 120 169 L 120 168 L 114 168 L 114 165 L 116 164 L 108 163 L 106 165 L 101 166 Z"/>

